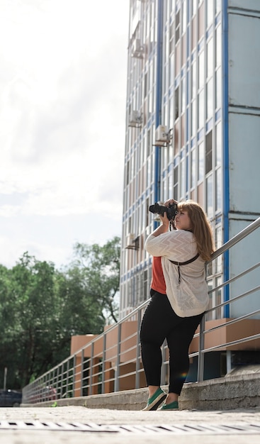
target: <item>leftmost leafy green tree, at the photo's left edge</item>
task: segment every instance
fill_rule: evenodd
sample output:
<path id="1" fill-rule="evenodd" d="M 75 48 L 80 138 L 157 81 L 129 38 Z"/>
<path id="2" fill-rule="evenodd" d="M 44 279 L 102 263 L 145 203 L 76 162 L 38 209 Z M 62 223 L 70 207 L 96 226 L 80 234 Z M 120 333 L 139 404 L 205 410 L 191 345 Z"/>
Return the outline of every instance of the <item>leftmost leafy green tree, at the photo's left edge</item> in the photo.
<path id="1" fill-rule="evenodd" d="M 9 368 L 13 384 L 27 384 L 31 375 L 41 374 L 52 362 L 55 326 L 53 264 L 39 262 L 28 252 L 9 272 L 1 311 L 6 322 L 1 326 L 4 347 L 1 365 Z M 10 376 L 11 372 L 11 376 Z"/>

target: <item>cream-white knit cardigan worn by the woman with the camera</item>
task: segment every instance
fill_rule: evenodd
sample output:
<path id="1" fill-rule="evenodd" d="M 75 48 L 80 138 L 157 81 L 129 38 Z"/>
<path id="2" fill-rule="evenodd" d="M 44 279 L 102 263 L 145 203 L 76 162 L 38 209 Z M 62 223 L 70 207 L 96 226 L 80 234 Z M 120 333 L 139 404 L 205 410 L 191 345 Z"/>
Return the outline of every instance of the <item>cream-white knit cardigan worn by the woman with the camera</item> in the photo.
<path id="1" fill-rule="evenodd" d="M 205 280 L 205 261 L 198 257 L 188 265 L 186 262 L 198 253 L 193 233 L 174 230 L 154 237 L 152 234 L 145 241 L 145 250 L 152 256 L 162 256 L 162 270 L 166 283 L 166 294 L 175 313 L 181 318 L 203 313 L 208 307 L 208 284 Z"/>

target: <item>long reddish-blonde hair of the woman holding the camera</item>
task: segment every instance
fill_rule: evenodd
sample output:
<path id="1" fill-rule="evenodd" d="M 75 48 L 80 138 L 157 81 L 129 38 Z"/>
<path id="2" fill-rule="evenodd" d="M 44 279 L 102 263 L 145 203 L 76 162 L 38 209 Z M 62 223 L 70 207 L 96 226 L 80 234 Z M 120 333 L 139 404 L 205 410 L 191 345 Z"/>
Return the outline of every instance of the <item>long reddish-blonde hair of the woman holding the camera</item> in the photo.
<path id="1" fill-rule="evenodd" d="M 178 211 L 187 211 L 191 220 L 191 231 L 196 238 L 198 254 L 203 260 L 210 260 L 215 251 L 213 232 L 208 218 L 197 202 L 188 200 L 179 202 Z"/>

